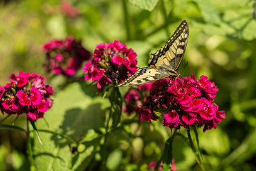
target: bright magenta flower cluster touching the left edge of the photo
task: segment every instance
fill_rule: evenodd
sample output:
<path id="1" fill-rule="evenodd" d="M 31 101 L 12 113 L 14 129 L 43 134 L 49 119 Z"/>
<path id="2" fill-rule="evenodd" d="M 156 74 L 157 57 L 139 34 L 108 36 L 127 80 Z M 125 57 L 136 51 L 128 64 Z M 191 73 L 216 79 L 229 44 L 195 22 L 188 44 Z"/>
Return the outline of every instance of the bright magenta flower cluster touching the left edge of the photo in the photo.
<path id="1" fill-rule="evenodd" d="M 52 87 L 45 84 L 45 77 L 36 73 L 12 74 L 10 83 L 0 86 L 0 109 L 6 114 L 27 114 L 28 121 L 44 117 L 52 107 Z"/>

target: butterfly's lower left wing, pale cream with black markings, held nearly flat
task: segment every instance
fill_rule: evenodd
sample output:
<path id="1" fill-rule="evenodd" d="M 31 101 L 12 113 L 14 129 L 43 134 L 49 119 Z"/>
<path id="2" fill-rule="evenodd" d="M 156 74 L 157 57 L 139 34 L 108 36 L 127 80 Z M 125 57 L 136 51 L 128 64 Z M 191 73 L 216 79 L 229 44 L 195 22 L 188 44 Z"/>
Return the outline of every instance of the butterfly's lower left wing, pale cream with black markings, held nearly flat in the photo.
<path id="1" fill-rule="evenodd" d="M 126 78 L 123 82 L 116 85 L 116 87 L 126 87 L 131 85 L 145 84 L 148 82 L 161 80 L 163 78 L 168 78 L 169 76 L 169 73 L 163 73 L 153 68 L 141 67 L 138 68 L 136 73 Z"/>

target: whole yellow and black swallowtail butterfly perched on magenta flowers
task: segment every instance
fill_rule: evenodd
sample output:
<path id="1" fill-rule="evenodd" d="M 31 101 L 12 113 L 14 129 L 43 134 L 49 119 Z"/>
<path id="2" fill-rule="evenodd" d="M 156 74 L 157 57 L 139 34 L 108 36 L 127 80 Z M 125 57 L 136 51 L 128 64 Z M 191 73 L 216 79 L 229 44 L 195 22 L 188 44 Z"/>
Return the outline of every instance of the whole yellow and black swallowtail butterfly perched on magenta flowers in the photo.
<path id="1" fill-rule="evenodd" d="M 166 41 L 164 47 L 150 55 L 149 67 L 138 68 L 136 73 L 120 82 L 116 87 L 140 85 L 168 77 L 178 77 L 177 70 L 186 50 L 188 33 L 188 23 L 184 20 Z"/>

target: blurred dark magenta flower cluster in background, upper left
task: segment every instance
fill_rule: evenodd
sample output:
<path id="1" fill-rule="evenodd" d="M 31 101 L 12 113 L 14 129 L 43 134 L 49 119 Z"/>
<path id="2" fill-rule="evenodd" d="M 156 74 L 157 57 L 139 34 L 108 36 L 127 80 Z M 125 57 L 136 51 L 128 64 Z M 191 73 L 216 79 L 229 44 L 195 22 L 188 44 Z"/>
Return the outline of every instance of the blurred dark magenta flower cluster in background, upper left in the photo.
<path id="1" fill-rule="evenodd" d="M 81 43 L 69 36 L 65 40 L 51 40 L 43 45 L 47 58 L 46 70 L 54 74 L 74 75 L 81 68 L 83 61 L 89 60 L 92 56 Z"/>

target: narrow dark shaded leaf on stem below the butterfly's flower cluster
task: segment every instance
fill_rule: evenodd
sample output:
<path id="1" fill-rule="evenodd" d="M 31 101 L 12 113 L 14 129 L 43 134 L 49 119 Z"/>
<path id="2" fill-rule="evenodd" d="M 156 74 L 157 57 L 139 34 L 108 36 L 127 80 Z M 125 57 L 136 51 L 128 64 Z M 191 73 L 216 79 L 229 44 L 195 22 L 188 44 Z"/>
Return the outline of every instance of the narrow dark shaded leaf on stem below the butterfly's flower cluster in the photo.
<path id="1" fill-rule="evenodd" d="M 173 138 L 170 137 L 166 140 L 164 145 L 164 152 L 163 152 L 163 171 L 170 170 L 172 167 L 172 141 Z"/>

